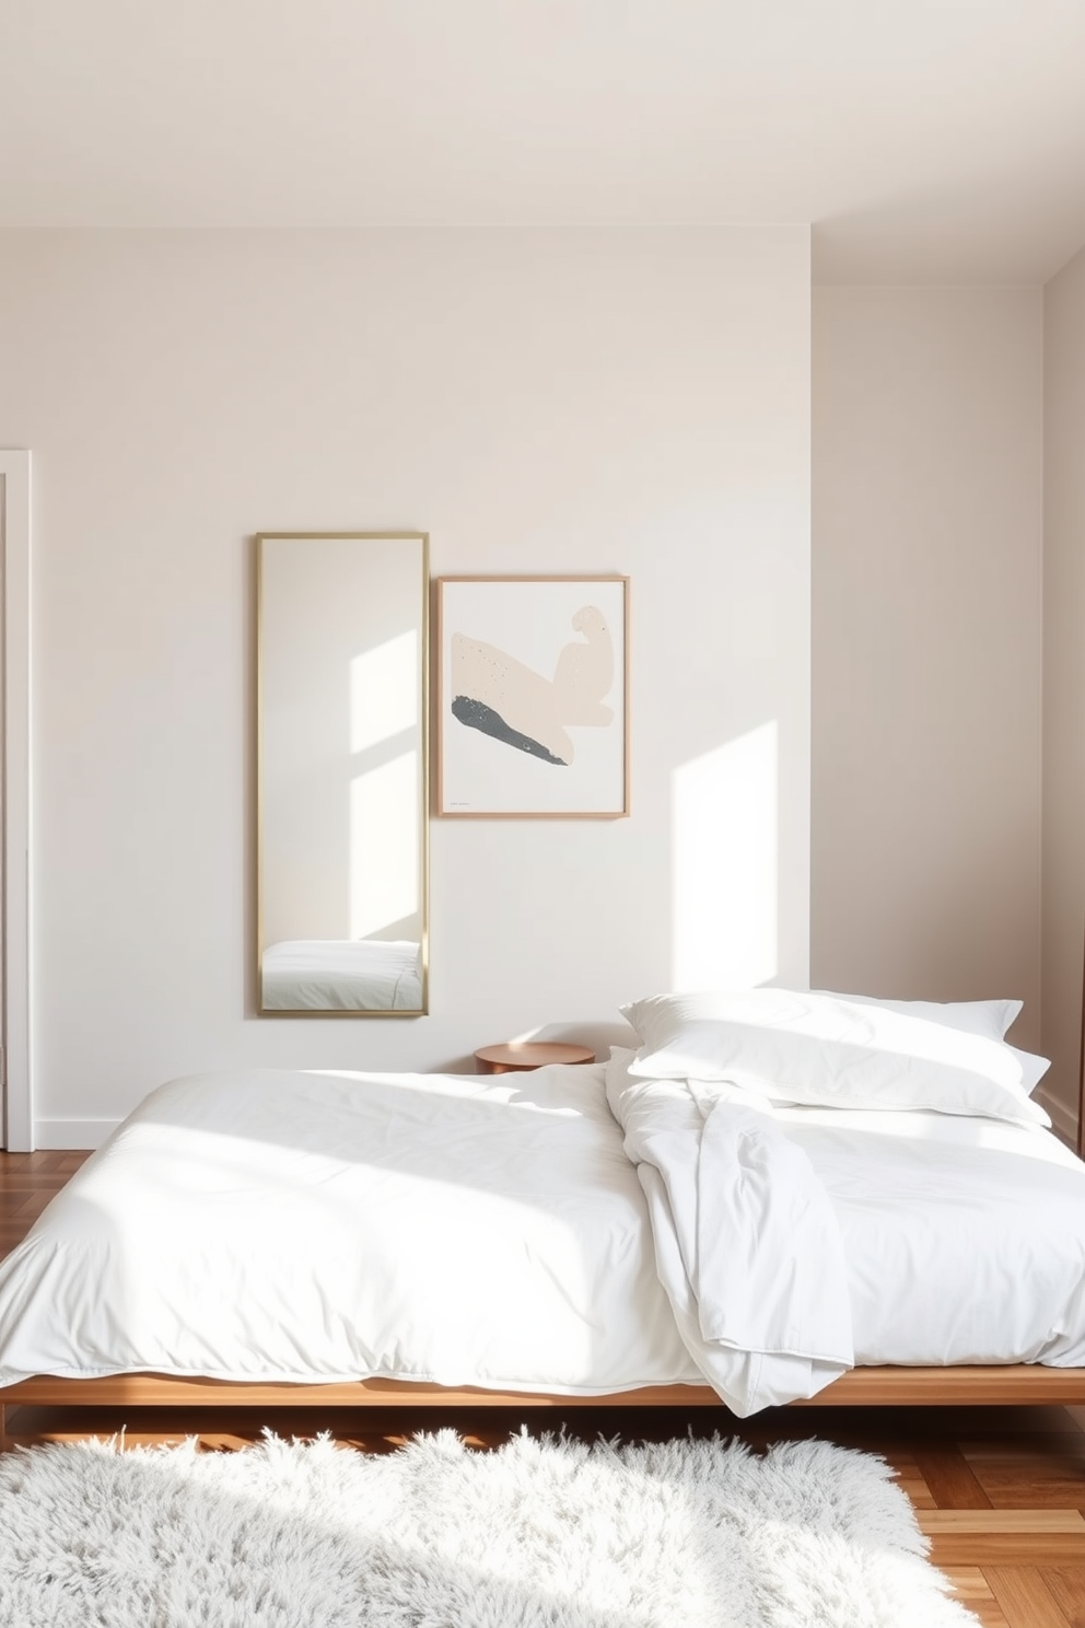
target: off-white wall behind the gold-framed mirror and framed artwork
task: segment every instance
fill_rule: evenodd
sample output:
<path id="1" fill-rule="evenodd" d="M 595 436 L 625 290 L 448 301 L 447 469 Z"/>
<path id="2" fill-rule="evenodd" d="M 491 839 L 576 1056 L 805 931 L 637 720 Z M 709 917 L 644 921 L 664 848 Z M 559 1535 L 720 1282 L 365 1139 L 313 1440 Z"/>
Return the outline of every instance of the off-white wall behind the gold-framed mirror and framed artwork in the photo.
<path id="1" fill-rule="evenodd" d="M 0 293 L 41 1144 L 187 1071 L 470 1068 L 807 978 L 807 228 L 16 233 Z M 434 821 L 431 1014 L 259 1019 L 252 536 L 355 527 L 630 575 L 633 814 Z"/>

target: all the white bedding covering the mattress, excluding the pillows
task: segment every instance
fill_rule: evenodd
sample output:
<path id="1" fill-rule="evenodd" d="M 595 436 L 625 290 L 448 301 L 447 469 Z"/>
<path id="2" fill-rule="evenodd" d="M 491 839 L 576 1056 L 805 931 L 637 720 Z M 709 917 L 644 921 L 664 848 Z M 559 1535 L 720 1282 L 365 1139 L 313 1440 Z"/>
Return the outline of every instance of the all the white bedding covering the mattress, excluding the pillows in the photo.
<path id="1" fill-rule="evenodd" d="M 1015 1361 L 1085 1366 L 1085 1166 L 1048 1131 L 613 1063 L 174 1081 L 0 1263 L 0 1384 L 706 1379 L 745 1415 Z"/>

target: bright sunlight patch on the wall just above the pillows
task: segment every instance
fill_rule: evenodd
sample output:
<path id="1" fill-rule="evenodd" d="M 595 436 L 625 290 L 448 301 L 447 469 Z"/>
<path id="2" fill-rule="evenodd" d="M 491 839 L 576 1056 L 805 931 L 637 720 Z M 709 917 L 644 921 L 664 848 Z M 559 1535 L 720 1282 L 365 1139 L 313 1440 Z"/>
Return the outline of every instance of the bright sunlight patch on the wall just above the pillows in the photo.
<path id="1" fill-rule="evenodd" d="M 779 972 L 779 739 L 761 724 L 672 778 L 672 987 L 752 988 Z"/>

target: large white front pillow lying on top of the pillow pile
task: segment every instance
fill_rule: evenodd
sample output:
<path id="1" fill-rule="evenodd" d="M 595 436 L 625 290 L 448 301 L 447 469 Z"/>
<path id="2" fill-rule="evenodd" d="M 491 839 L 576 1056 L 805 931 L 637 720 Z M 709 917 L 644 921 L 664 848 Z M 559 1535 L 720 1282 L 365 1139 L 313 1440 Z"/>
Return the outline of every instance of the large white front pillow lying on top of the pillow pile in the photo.
<path id="1" fill-rule="evenodd" d="M 1000 1037 L 888 1003 L 735 990 L 652 995 L 621 1011 L 641 1042 L 630 1065 L 641 1078 L 730 1079 L 774 1102 L 1051 1123 Z"/>

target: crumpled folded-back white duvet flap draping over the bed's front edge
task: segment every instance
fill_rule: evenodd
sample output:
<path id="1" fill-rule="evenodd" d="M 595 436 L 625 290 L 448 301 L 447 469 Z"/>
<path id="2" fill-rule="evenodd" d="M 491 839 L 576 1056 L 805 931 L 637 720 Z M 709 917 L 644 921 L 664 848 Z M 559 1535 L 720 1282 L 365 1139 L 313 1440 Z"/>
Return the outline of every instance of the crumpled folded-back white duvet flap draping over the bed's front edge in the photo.
<path id="1" fill-rule="evenodd" d="M 722 1081 L 636 1079 L 620 1061 L 607 1097 L 682 1338 L 734 1411 L 810 1397 L 851 1368 L 836 1211 L 773 1110 Z"/>

